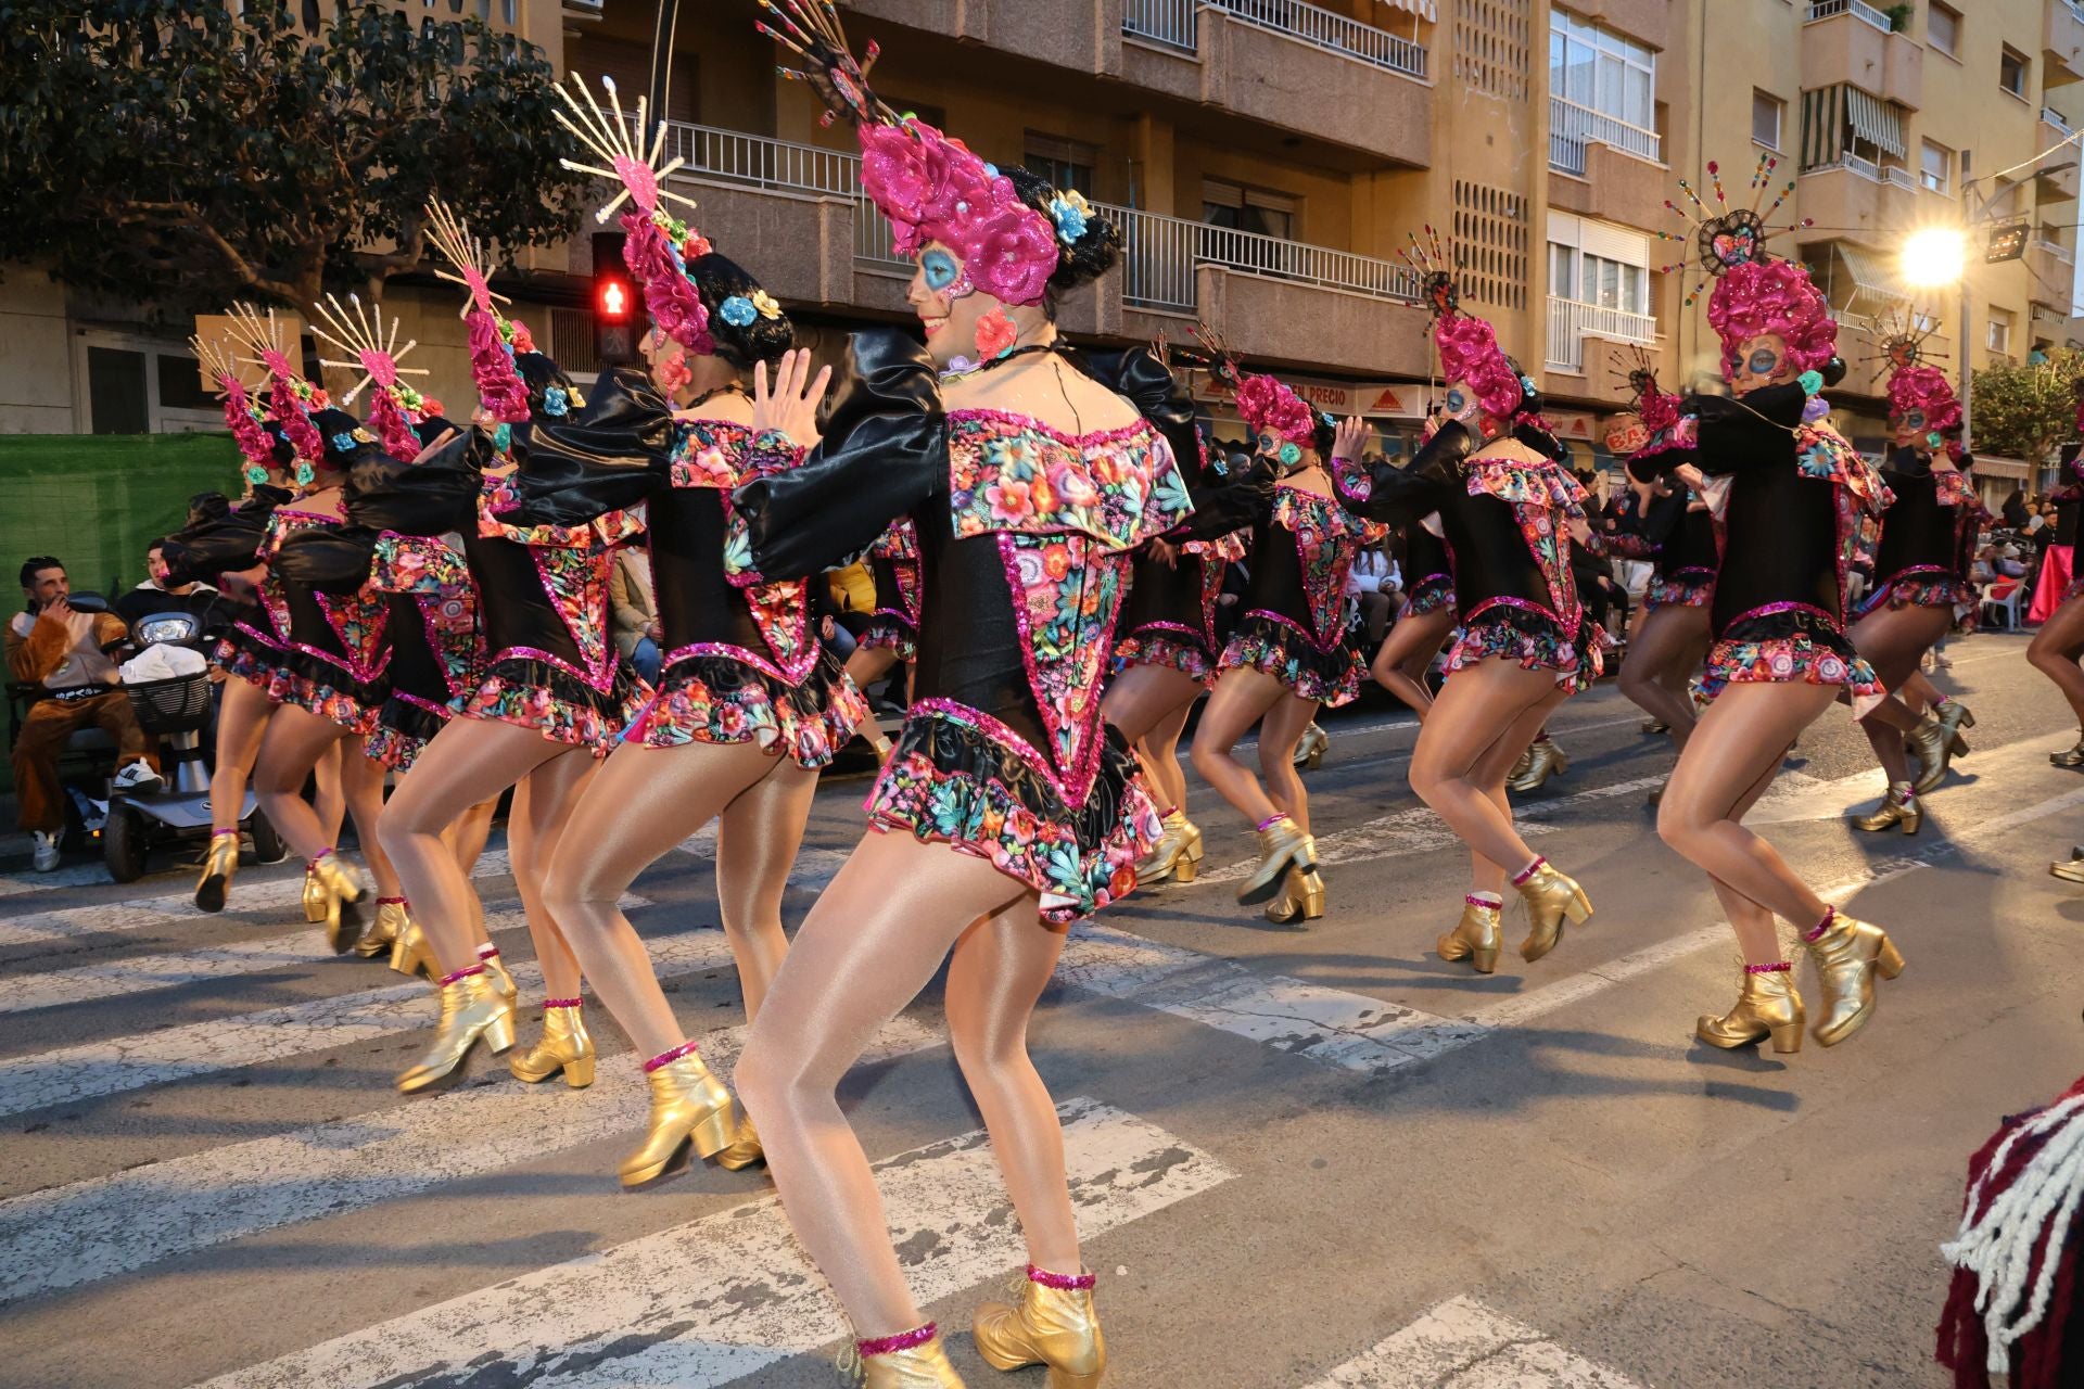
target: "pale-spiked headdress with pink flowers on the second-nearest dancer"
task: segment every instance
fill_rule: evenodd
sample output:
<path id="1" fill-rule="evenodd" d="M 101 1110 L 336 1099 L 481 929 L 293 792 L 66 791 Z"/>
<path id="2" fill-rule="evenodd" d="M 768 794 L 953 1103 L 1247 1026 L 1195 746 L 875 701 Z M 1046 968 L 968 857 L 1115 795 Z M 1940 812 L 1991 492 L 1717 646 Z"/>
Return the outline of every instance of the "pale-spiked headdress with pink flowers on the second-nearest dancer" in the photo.
<path id="1" fill-rule="evenodd" d="M 713 356 L 717 342 L 709 333 L 709 308 L 702 306 L 702 296 L 694 292 L 694 281 L 688 279 L 688 262 L 706 256 L 711 246 L 702 233 L 673 217 L 665 206 L 667 200 L 690 208 L 696 206 L 694 198 L 663 187 L 663 179 L 686 160 L 673 156 L 663 165 L 659 162 L 659 156 L 665 154 L 665 121 L 659 121 L 656 129 L 650 131 L 648 150 L 640 144 L 648 131 L 646 98 L 638 98 L 636 121 L 631 121 L 623 112 L 623 98 L 615 90 L 615 79 L 602 77 L 600 85 L 609 94 L 606 108 L 594 100 L 594 92 L 586 85 L 586 79 L 573 73 L 569 85 L 561 83 L 556 87 L 567 110 L 554 115 L 559 125 L 571 131 L 573 140 L 586 146 L 596 158 L 606 160 L 609 167 L 581 165 L 571 158 L 556 162 L 575 173 L 617 179 L 623 185 L 606 206 L 594 212 L 594 221 L 609 221 L 623 202 L 636 208 L 621 217 L 623 264 L 629 267 L 629 275 L 644 289 L 644 308 L 661 333 L 696 356 Z M 609 115 L 609 110 L 615 115 Z"/>

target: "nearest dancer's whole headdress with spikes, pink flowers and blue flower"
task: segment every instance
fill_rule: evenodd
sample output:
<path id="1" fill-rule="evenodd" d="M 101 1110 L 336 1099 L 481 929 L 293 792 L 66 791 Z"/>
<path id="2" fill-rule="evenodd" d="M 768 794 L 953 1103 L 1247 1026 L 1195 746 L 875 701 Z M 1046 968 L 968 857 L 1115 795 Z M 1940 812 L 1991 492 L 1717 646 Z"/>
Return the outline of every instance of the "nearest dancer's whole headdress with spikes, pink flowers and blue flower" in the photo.
<path id="1" fill-rule="evenodd" d="M 879 48 L 857 62 L 832 0 L 761 0 L 773 23 L 759 31 L 798 58 L 775 69 L 811 83 L 825 100 L 825 123 L 844 115 L 861 140 L 861 187 L 896 229 L 894 248 L 915 256 L 944 242 L 963 258 L 950 298 L 982 289 L 1007 304 L 1040 304 L 1063 250 L 1094 221 L 1082 194 L 1057 192 L 1048 214 L 1027 206 L 1013 179 L 917 117 L 898 115 L 869 90 Z"/>

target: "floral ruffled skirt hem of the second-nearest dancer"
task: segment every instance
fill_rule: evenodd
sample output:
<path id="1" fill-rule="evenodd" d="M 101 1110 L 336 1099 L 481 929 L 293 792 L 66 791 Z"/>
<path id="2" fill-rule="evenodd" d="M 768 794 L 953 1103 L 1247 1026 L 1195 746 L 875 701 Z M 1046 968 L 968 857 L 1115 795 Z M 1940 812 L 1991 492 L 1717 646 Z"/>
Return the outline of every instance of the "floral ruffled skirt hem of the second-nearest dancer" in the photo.
<path id="1" fill-rule="evenodd" d="M 869 718 L 869 702 L 846 679 L 832 652 L 800 683 L 729 656 L 675 660 L 623 741 L 644 748 L 688 743 L 759 743 L 802 766 L 827 766 L 834 752 Z"/>

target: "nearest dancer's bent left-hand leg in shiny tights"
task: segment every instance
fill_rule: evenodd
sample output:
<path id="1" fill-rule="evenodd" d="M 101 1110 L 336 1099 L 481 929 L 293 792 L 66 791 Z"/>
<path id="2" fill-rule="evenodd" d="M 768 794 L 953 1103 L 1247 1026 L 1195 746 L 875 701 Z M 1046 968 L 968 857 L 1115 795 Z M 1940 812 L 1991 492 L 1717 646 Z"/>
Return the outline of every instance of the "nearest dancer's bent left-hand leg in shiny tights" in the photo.
<path id="1" fill-rule="evenodd" d="M 904 1287 L 867 1154 L 840 1112 L 840 1077 L 963 933 L 1015 906 L 1032 912 L 1032 902 L 1034 889 L 979 858 L 871 829 L 796 931 L 738 1060 L 738 1097 L 759 1125 L 796 1239 L 863 1337 L 925 1318 Z"/>

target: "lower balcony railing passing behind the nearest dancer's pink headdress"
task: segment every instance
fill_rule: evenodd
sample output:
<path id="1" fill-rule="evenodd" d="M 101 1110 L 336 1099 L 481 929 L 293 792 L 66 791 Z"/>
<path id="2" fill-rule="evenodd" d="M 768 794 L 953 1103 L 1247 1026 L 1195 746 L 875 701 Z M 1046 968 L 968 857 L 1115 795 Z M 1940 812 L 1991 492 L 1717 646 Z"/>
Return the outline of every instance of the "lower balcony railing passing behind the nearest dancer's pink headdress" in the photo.
<path id="1" fill-rule="evenodd" d="M 873 267 L 911 267 L 892 248 L 890 223 L 861 192 L 857 154 L 684 121 L 667 123 L 667 154 L 686 160 L 673 177 L 848 198 L 854 202 L 854 258 Z M 1198 306 L 1194 271 L 1202 264 L 1380 300 L 1419 298 L 1417 275 L 1394 260 L 1211 227 L 1184 217 L 1094 206 L 1121 227 L 1121 300 L 1134 308 L 1192 314 Z"/>

